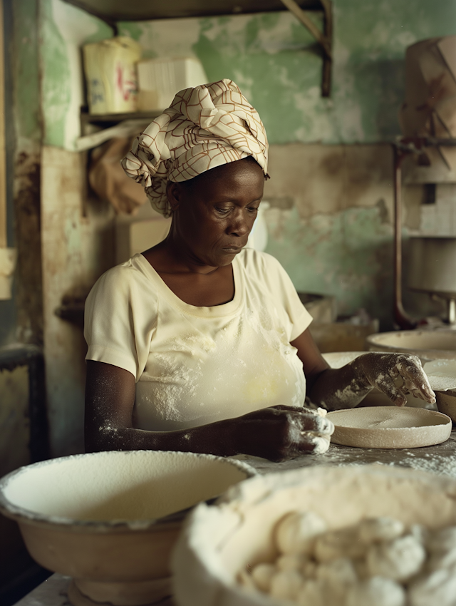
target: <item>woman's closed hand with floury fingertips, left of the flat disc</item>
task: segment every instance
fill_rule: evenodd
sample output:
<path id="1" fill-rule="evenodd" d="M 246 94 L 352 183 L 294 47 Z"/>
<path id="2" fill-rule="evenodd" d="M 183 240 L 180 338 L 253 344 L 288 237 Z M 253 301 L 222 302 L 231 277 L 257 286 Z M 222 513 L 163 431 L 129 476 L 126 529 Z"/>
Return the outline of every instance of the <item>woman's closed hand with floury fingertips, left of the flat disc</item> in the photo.
<path id="1" fill-rule="evenodd" d="M 238 453 L 269 461 L 326 452 L 334 431 L 328 418 L 289 406 L 261 409 L 221 423 L 229 423 L 232 444 Z"/>

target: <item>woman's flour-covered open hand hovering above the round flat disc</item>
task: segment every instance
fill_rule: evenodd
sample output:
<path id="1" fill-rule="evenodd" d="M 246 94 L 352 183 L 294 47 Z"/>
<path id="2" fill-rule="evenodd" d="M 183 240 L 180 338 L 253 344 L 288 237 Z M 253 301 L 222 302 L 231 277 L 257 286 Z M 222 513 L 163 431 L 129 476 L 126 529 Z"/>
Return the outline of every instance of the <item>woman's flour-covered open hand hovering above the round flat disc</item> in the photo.
<path id="1" fill-rule="evenodd" d="M 405 406 L 407 394 L 433 404 L 435 394 L 417 356 L 370 352 L 353 360 L 358 381 L 376 387 L 396 406 Z"/>

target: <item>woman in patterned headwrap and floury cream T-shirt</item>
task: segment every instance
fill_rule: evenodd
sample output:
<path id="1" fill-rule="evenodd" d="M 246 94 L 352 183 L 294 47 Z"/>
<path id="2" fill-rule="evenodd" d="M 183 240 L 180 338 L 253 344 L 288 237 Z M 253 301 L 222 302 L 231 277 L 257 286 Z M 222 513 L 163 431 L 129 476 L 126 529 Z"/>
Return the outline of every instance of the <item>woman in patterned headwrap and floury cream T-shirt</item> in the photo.
<path id="1" fill-rule="evenodd" d="M 373 386 L 398 406 L 409 391 L 435 401 L 414 356 L 365 354 L 329 369 L 284 269 L 244 248 L 267 140 L 232 81 L 178 93 L 123 167 L 172 225 L 88 297 L 88 451 L 279 461 L 328 448 L 333 425 L 303 408 L 306 394 L 325 409 L 356 406 Z"/>

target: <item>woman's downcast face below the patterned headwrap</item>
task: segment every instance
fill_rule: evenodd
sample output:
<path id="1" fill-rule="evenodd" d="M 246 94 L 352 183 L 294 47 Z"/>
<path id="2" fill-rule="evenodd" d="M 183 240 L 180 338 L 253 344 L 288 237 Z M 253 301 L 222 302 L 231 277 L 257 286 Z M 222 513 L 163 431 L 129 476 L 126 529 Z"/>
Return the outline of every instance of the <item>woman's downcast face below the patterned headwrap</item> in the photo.
<path id="1" fill-rule="evenodd" d="M 263 187 L 263 171 L 252 158 L 168 183 L 172 240 L 198 265 L 229 265 L 247 244 Z"/>

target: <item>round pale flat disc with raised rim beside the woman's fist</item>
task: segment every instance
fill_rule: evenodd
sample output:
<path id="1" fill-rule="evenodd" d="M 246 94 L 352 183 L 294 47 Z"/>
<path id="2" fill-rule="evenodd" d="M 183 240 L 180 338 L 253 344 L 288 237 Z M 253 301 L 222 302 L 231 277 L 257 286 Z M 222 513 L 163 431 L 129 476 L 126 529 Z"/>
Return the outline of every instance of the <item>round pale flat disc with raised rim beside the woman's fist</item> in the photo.
<path id="1" fill-rule="evenodd" d="M 405 406 L 372 406 L 334 411 L 331 442 L 356 448 L 419 448 L 445 442 L 451 419 L 445 414 Z"/>

